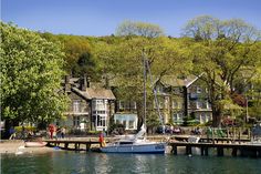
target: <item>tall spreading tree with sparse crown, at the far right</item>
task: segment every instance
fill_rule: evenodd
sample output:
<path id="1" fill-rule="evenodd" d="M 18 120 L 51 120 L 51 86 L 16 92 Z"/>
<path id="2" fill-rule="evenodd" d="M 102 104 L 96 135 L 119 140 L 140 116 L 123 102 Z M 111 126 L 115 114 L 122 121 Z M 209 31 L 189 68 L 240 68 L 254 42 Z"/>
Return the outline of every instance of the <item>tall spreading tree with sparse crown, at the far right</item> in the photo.
<path id="1" fill-rule="evenodd" d="M 190 20 L 185 35 L 191 45 L 194 73 L 207 82 L 212 104 L 213 126 L 221 122 L 223 103 L 232 102 L 239 79 L 251 79 L 260 62 L 260 32 L 242 20 L 221 21 L 203 16 Z M 227 104 L 228 105 L 228 104 Z"/>

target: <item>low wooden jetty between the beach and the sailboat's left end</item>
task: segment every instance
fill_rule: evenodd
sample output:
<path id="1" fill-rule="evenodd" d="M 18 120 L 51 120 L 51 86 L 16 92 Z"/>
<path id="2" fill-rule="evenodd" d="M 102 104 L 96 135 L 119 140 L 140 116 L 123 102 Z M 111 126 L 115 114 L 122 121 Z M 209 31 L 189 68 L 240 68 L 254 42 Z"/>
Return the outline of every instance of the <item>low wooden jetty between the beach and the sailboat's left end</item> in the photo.
<path id="1" fill-rule="evenodd" d="M 71 151 L 82 151 L 80 149 L 81 144 L 85 145 L 85 151 L 90 151 L 93 144 L 100 144 L 98 141 L 95 140 L 44 140 L 46 142 L 46 146 L 59 146 L 62 150 L 71 150 Z M 61 145 L 62 144 L 62 145 Z M 74 149 L 70 147 L 70 145 L 74 145 Z"/>

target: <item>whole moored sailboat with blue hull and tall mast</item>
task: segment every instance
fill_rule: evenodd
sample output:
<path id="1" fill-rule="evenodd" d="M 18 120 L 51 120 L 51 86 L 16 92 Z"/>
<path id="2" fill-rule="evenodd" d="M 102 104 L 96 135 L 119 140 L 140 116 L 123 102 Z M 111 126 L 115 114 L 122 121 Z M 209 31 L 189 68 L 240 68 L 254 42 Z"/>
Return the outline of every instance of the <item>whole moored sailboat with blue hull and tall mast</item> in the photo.
<path id="1" fill-rule="evenodd" d="M 106 146 L 101 147 L 102 152 L 146 154 L 165 153 L 165 142 L 152 142 L 146 139 L 146 65 L 148 65 L 148 63 L 144 57 L 144 124 L 140 131 L 134 136 L 127 136 L 127 139 L 119 139 L 118 141 L 108 143 Z"/>

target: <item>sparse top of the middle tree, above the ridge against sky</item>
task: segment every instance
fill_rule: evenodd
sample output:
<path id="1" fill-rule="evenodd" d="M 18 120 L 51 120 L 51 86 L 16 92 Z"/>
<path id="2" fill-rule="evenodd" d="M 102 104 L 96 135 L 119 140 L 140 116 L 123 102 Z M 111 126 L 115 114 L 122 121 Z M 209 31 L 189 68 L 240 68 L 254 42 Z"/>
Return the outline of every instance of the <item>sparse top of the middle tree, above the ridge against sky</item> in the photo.
<path id="1" fill-rule="evenodd" d="M 126 20 L 118 25 L 118 28 L 116 29 L 116 34 L 156 38 L 164 35 L 164 31 L 157 24 Z"/>

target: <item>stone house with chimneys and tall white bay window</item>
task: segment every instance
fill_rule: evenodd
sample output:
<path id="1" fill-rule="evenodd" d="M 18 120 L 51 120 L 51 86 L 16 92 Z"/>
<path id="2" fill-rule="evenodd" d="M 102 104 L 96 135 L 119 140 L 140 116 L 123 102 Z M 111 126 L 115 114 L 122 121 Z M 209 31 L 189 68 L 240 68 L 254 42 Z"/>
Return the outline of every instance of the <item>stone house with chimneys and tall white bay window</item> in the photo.
<path id="1" fill-rule="evenodd" d="M 63 125 L 80 130 L 106 131 L 114 114 L 115 96 L 112 90 L 90 82 L 90 79 L 65 78 L 64 92 L 70 98 Z"/>

